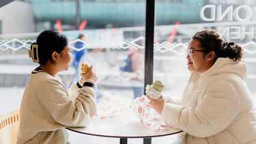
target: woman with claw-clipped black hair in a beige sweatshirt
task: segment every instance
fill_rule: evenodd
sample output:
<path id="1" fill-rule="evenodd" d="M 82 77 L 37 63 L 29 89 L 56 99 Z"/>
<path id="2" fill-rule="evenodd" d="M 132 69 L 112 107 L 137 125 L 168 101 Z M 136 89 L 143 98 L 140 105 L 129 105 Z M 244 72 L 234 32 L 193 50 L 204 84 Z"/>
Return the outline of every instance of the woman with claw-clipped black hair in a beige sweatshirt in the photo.
<path id="1" fill-rule="evenodd" d="M 69 143 L 65 128 L 88 126 L 96 115 L 98 76 L 92 69 L 66 89 L 57 73 L 70 66 L 70 44 L 57 31 L 40 33 L 29 57 L 40 66 L 31 72 L 23 94 L 17 144 Z"/>

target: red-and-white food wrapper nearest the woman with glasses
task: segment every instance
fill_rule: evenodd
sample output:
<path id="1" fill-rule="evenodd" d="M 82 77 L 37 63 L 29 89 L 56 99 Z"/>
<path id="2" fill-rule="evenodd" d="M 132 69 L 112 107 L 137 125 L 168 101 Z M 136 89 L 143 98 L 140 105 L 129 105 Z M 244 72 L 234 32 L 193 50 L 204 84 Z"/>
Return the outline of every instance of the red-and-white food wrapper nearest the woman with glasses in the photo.
<path id="1" fill-rule="evenodd" d="M 168 128 L 159 115 L 150 106 L 150 100 L 146 96 L 141 96 L 132 101 L 131 108 L 136 113 L 139 121 L 152 130 L 164 130 Z"/>

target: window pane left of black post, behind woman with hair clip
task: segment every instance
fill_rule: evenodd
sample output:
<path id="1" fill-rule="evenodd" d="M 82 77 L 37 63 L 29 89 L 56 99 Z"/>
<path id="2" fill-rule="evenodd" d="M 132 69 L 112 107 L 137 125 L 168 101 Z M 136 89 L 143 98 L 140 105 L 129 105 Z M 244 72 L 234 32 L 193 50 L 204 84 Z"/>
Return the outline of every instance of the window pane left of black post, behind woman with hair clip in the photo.
<path id="1" fill-rule="evenodd" d="M 39 66 L 28 57 L 28 50 L 38 35 L 48 29 L 60 31 L 70 40 L 73 54 L 70 68 L 58 74 L 67 88 L 80 80 L 81 63 L 88 63 L 99 77 L 98 102 L 110 93 L 131 100 L 143 94 L 145 0 L 79 4 L 75 0 L 14 1 L 0 11 L 6 26 L 0 38 L 0 115 L 20 108 L 31 71 Z M 84 37 L 79 37 L 80 34 Z M 70 141 L 76 141 L 74 135 Z M 81 137 L 78 141 L 83 140 Z M 91 137 L 94 138 L 86 139 L 86 143 L 99 139 L 119 142 L 114 138 L 112 141 Z"/>

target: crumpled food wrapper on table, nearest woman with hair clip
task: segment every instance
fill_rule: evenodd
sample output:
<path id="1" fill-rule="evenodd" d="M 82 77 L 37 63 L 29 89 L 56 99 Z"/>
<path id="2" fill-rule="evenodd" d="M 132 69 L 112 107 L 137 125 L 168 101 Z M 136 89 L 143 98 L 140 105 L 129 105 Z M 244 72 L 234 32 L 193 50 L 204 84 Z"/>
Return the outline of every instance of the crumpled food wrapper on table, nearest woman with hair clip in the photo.
<path id="1" fill-rule="evenodd" d="M 106 119 L 117 115 L 120 111 L 128 109 L 132 100 L 127 96 L 110 93 L 109 91 L 103 92 L 103 98 L 99 100 L 96 113 L 96 118 Z"/>

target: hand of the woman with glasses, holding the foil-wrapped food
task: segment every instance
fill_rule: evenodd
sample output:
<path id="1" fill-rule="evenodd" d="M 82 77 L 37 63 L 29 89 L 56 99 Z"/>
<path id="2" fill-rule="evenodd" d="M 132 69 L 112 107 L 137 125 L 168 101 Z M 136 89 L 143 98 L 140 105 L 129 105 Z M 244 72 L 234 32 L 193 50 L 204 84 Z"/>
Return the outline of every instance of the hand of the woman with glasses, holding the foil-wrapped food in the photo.
<path id="1" fill-rule="evenodd" d="M 162 98 L 162 96 L 158 99 L 158 100 L 154 100 L 152 98 L 150 98 L 150 96 L 146 97 L 150 100 L 150 105 L 152 106 L 152 108 L 159 113 L 160 115 L 162 114 L 162 109 L 165 106 L 165 99 Z"/>

